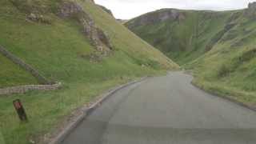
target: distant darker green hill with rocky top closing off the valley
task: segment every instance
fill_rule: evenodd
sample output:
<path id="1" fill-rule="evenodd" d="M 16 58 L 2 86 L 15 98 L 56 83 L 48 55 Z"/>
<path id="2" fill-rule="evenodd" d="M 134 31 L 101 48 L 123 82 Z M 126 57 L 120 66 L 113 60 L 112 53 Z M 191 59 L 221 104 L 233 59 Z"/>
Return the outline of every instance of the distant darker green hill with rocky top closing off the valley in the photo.
<path id="1" fill-rule="evenodd" d="M 163 9 L 125 25 L 179 64 L 185 64 L 212 48 L 232 13 Z"/>

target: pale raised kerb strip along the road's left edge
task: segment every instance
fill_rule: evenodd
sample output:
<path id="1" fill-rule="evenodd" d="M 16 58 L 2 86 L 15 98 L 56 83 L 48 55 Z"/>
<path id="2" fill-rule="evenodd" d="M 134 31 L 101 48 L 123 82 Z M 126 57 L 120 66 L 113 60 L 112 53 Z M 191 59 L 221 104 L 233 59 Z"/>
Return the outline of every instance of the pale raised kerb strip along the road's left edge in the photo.
<path id="1" fill-rule="evenodd" d="M 72 130 L 74 130 L 74 128 L 76 128 L 82 122 L 82 120 L 84 120 L 90 113 L 97 109 L 98 106 L 102 104 L 102 102 L 105 102 L 107 98 L 110 98 L 110 96 L 116 93 L 118 90 L 122 90 L 128 86 L 134 85 L 135 83 L 142 82 L 147 78 L 149 77 L 143 77 L 138 80 L 123 84 L 121 86 L 116 86 L 114 89 L 108 90 L 105 94 L 101 94 L 99 96 L 99 99 L 90 106 L 83 106 L 82 108 L 78 109 L 79 114 L 75 116 L 76 118 L 68 122 L 67 125 L 58 134 L 56 134 L 56 136 L 54 136 L 54 138 L 50 138 L 50 141 L 46 143 L 58 144 L 62 142 L 66 138 L 66 136 L 69 135 Z"/>

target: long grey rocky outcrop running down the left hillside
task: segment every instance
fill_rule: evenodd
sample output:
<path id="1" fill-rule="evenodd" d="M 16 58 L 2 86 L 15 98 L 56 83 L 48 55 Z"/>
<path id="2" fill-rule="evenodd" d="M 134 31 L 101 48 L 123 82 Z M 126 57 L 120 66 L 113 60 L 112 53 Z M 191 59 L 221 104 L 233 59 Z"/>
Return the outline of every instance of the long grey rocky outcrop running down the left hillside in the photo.
<path id="1" fill-rule="evenodd" d="M 83 33 L 86 34 L 96 50 L 102 54 L 107 54 L 111 49 L 110 38 L 98 28 L 89 14 L 76 2 L 62 2 L 59 6 L 58 16 L 61 18 L 74 18 L 83 26 Z"/>

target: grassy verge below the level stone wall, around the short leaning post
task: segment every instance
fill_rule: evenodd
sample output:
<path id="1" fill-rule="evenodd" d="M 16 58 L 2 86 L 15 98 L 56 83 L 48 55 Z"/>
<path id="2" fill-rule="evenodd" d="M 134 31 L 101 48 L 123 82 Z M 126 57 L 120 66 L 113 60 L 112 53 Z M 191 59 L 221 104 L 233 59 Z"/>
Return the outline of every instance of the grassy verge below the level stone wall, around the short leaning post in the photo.
<path id="1" fill-rule="evenodd" d="M 56 129 L 56 124 L 78 106 L 90 102 L 104 90 L 128 80 L 113 78 L 104 82 L 72 83 L 65 85 L 62 90 L 30 92 L 1 98 L 0 119 L 6 143 L 28 143 L 30 139 L 38 140 L 39 136 Z M 22 99 L 29 122 L 19 122 L 12 106 L 15 98 Z"/>

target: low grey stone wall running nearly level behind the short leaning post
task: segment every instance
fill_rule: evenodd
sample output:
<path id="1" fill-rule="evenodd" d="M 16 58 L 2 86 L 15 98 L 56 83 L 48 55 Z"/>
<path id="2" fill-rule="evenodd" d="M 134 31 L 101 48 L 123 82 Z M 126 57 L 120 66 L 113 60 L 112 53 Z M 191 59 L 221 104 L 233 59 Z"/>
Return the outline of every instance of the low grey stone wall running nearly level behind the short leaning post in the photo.
<path id="1" fill-rule="evenodd" d="M 7 94 L 24 94 L 30 90 L 57 90 L 62 86 L 61 83 L 56 83 L 53 85 L 26 85 L 26 86 L 13 86 L 0 89 L 0 95 Z"/>

